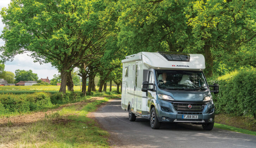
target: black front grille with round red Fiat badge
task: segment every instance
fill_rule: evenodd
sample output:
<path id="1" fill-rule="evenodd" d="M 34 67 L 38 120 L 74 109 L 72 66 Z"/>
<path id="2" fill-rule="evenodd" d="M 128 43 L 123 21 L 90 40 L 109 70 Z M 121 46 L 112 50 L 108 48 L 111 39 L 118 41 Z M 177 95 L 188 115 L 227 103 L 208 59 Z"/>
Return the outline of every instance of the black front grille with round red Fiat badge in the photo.
<path id="1" fill-rule="evenodd" d="M 173 106 L 175 107 L 176 111 L 194 111 L 194 112 L 201 112 L 203 111 L 203 107 L 205 104 L 190 104 L 192 107 L 191 109 L 188 108 L 188 105 L 190 103 L 173 103 Z"/>

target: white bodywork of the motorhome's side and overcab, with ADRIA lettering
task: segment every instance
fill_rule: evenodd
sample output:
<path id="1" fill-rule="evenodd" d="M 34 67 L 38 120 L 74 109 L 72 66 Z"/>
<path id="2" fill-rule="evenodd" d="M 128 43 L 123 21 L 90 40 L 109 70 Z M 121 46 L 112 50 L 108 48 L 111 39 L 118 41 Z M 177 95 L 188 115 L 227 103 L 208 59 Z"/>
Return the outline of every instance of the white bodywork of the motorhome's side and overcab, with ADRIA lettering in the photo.
<path id="1" fill-rule="evenodd" d="M 148 117 L 149 107 L 146 92 L 141 91 L 142 82 L 147 80 L 149 69 L 184 69 L 202 71 L 205 69 L 205 58 L 201 54 L 189 54 L 189 62 L 168 61 L 159 53 L 140 52 L 127 56 L 122 60 L 122 102 L 123 110 L 127 110 L 130 105 L 132 112 L 138 116 Z M 136 65 L 137 65 L 137 85 L 136 85 Z M 126 68 L 128 75 L 126 76 Z M 145 74 L 144 74 L 145 73 Z"/>

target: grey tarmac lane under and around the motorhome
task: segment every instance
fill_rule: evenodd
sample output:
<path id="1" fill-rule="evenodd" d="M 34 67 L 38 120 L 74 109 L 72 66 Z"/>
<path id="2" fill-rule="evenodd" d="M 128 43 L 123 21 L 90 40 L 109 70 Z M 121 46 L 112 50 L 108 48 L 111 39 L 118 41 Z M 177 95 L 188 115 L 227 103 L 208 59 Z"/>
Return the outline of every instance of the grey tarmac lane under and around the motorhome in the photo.
<path id="1" fill-rule="evenodd" d="M 147 119 L 130 122 L 121 99 L 111 100 L 94 115 L 116 147 L 256 147 L 256 136 L 218 128 L 205 131 L 201 125 L 162 123 L 153 130 Z"/>

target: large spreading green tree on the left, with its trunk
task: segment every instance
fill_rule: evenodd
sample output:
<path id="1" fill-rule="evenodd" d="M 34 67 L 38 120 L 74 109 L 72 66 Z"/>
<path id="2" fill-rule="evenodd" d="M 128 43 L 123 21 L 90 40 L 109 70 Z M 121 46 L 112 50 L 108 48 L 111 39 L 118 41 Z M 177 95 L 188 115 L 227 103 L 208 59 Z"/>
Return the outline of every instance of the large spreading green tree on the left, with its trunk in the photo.
<path id="1" fill-rule="evenodd" d="M 61 73 L 60 92 L 65 93 L 68 74 L 97 57 L 112 30 L 105 7 L 104 0 L 13 0 L 1 11 L 2 58 L 31 52 L 36 61 L 50 62 Z"/>

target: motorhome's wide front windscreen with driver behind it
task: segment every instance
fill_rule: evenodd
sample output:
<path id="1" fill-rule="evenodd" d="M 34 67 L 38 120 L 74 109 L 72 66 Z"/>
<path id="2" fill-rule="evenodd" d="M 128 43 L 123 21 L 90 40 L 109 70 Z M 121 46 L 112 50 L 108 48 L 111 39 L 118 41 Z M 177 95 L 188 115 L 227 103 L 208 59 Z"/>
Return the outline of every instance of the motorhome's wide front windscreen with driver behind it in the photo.
<path id="1" fill-rule="evenodd" d="M 208 89 L 202 72 L 185 70 L 156 70 L 157 84 L 167 90 L 201 90 Z"/>

